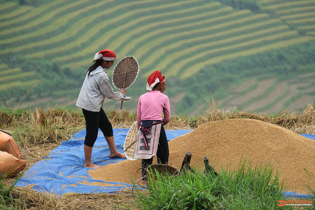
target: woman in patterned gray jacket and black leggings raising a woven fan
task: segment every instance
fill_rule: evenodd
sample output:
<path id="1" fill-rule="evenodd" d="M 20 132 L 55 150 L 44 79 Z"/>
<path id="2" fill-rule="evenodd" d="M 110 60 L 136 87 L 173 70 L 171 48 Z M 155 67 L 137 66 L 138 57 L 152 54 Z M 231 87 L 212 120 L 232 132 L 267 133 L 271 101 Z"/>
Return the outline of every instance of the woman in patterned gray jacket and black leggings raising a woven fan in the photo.
<path id="1" fill-rule="evenodd" d="M 86 136 L 84 141 L 84 167 L 98 168 L 91 161 L 93 145 L 96 141 L 98 129 L 102 131 L 110 149 L 111 158 L 126 158 L 124 154 L 117 151 L 112 124 L 109 122 L 102 105 L 105 97 L 114 100 L 130 100 L 126 97 L 126 90 L 113 92 L 109 78 L 104 69 L 109 69 L 116 60 L 116 54 L 109 49 L 95 54 L 94 64 L 91 65 L 85 76 L 76 106 L 82 108 L 86 125 Z"/>

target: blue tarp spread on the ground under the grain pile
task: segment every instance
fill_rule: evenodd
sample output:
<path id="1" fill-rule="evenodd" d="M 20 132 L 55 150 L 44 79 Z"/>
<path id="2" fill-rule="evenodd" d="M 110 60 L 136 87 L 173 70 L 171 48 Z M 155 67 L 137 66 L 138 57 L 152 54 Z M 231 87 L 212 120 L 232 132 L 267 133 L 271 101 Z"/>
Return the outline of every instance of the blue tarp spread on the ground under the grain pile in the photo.
<path id="1" fill-rule="evenodd" d="M 129 129 L 113 129 L 116 148 L 123 153 L 123 143 Z M 192 130 L 166 130 L 168 140 L 174 139 L 180 135 L 188 133 Z M 315 135 L 301 134 L 306 138 L 314 139 Z M 117 192 L 125 188 L 132 188 L 133 185 L 117 182 L 105 182 L 103 180 L 91 179 L 88 170 L 91 168 L 83 168 L 84 151 L 83 143 L 85 137 L 85 129 L 74 134 L 68 141 L 63 141 L 60 146 L 52 150 L 49 156 L 33 166 L 31 166 L 24 175 L 18 180 L 15 186 L 23 187 L 34 184 L 32 187 L 39 192 L 50 192 L 62 195 L 67 192 L 74 193 L 109 193 Z M 106 140 L 99 130 L 99 135 L 93 147 L 92 162 L 104 166 L 106 164 L 123 161 L 122 158 L 110 158 L 109 148 Z M 103 186 L 95 186 L 84 183 L 99 182 Z M 106 185 L 108 184 L 108 186 Z M 106 186 L 106 187 L 104 187 Z M 295 194 L 294 192 L 284 192 L 284 196 L 307 198 L 309 195 Z"/>

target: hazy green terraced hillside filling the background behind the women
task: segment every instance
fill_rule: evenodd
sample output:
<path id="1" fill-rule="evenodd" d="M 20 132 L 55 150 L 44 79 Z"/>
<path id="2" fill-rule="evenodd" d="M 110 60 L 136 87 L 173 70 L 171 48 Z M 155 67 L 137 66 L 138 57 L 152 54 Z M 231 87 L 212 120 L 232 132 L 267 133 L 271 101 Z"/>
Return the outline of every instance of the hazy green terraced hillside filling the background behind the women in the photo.
<path id="1" fill-rule="evenodd" d="M 146 78 L 166 76 L 173 114 L 225 109 L 301 111 L 315 98 L 313 0 L 0 0 L 0 98 L 10 108 L 75 107 L 94 54 L 140 65 L 124 109 Z M 112 70 L 107 71 L 109 76 Z M 111 78 L 110 78 L 111 79 Z M 108 110 L 120 103 L 106 100 Z"/>

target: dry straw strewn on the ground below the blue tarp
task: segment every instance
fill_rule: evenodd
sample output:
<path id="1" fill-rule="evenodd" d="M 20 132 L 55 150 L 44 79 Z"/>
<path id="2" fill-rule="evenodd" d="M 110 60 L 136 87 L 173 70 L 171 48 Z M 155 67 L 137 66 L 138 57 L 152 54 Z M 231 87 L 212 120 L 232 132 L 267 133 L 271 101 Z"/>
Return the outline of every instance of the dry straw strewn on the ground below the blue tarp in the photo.
<path id="1" fill-rule="evenodd" d="M 11 196 L 20 201 L 17 209 L 100 209 L 109 210 L 113 206 L 125 205 L 130 210 L 138 210 L 140 207 L 135 203 L 135 197 L 129 189 L 121 190 L 118 193 L 65 193 L 62 196 L 48 192 L 36 192 L 28 187 L 14 187 L 10 192 Z M 141 191 L 147 194 L 146 190 Z M 24 205 L 26 204 L 26 205 Z"/>

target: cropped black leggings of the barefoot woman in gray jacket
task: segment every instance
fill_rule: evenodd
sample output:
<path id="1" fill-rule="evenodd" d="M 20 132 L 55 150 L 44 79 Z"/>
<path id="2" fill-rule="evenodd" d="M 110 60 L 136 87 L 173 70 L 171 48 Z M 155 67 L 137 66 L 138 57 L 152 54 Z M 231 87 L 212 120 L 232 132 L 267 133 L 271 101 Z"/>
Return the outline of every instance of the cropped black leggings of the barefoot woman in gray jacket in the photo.
<path id="1" fill-rule="evenodd" d="M 100 108 L 100 111 L 98 112 L 87 111 L 85 109 L 82 109 L 82 111 L 85 118 L 86 127 L 84 145 L 93 147 L 98 135 L 99 128 L 105 137 L 111 137 L 114 135 L 112 123 L 109 122 L 103 108 Z"/>

